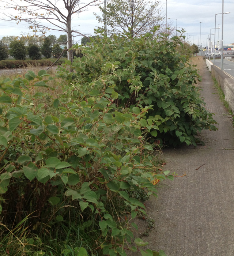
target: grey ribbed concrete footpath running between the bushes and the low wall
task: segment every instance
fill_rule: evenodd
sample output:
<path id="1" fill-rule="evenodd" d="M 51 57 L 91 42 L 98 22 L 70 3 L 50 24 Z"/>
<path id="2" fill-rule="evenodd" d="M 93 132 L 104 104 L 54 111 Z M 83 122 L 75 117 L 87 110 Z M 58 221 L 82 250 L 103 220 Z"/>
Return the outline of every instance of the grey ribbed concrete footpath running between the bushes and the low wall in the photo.
<path id="1" fill-rule="evenodd" d="M 215 114 L 218 131 L 199 133 L 203 146 L 165 148 L 164 170 L 186 176 L 162 182 L 158 198 L 146 202 L 155 227 L 142 239 L 149 242 L 148 248 L 163 250 L 167 256 L 234 256 L 232 118 L 219 100 L 205 62 L 201 75 L 201 95 Z M 146 223 L 139 223 L 144 229 Z"/>

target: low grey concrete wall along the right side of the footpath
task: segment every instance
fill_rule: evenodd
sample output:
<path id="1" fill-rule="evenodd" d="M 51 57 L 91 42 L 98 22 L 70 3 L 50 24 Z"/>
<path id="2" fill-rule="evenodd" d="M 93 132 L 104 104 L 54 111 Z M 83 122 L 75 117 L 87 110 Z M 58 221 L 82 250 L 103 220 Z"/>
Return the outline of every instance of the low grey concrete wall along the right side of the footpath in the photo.
<path id="1" fill-rule="evenodd" d="M 211 75 L 217 80 L 219 86 L 223 90 L 225 100 L 234 113 L 234 79 L 230 78 L 229 75 L 225 74 L 213 64 L 211 65 Z"/>

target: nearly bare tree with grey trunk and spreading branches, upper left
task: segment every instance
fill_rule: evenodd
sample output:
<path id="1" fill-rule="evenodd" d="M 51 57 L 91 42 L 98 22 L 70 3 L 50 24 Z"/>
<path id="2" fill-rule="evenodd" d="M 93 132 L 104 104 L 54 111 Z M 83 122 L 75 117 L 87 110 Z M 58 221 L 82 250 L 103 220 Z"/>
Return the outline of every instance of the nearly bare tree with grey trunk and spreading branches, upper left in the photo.
<path id="1" fill-rule="evenodd" d="M 86 3 L 82 3 L 80 0 L 3 0 L 1 2 L 5 6 L 1 7 L 1 10 L 15 10 L 16 15 L 14 13 L 8 15 L 4 11 L 5 18 L 1 19 L 16 20 L 17 23 L 23 20 L 29 24 L 30 29 L 37 29 L 43 34 L 48 30 L 65 32 L 67 34 L 69 60 L 72 61 L 72 32 L 83 35 L 71 29 L 72 17 L 86 11 L 88 6 L 95 5 L 98 0 L 84 1 Z"/>

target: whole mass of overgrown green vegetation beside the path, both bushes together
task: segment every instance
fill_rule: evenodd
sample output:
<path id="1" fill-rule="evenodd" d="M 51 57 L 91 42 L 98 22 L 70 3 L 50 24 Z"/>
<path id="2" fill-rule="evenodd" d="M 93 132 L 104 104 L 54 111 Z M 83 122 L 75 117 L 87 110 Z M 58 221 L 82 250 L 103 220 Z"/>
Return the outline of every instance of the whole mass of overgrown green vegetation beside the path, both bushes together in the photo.
<path id="1" fill-rule="evenodd" d="M 215 121 L 178 38 L 128 36 L 66 61 L 62 93 L 44 70 L 0 83 L 1 255 L 165 256 L 132 233 L 141 199 L 173 180 L 158 144 L 196 144 Z"/>

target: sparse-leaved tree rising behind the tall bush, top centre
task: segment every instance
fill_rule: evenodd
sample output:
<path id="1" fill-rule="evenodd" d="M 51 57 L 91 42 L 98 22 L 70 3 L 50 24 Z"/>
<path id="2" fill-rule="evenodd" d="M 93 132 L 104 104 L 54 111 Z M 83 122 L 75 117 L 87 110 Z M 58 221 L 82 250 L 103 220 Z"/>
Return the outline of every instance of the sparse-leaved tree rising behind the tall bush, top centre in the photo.
<path id="1" fill-rule="evenodd" d="M 111 27 L 110 33 L 128 33 L 135 37 L 144 34 L 159 25 L 159 1 L 110 0 L 106 10 L 99 7 L 102 17 L 96 15 L 99 22 Z"/>

